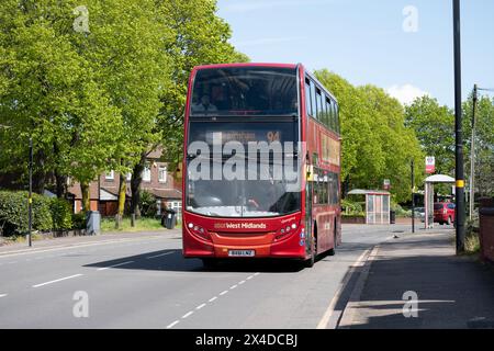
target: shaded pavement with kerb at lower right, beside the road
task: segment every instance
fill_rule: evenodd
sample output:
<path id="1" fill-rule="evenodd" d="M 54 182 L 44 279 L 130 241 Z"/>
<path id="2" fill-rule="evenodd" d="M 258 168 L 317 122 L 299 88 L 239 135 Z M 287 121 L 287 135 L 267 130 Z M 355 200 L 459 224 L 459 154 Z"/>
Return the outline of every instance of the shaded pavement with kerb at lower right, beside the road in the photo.
<path id="1" fill-rule="evenodd" d="M 397 236 L 367 259 L 339 328 L 494 328 L 492 265 L 456 256 L 452 229 Z"/>

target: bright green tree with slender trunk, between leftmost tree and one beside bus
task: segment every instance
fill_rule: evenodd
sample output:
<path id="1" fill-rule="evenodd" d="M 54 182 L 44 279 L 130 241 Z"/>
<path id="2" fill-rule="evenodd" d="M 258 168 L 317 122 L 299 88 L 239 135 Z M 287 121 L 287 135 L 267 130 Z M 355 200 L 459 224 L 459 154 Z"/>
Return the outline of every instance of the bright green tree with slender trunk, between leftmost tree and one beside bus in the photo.
<path id="1" fill-rule="evenodd" d="M 151 0 L 93 1 L 88 10 L 91 33 L 80 38 L 81 55 L 98 69 L 100 86 L 122 115 L 123 129 L 111 163 L 120 173 L 121 219 L 126 173 L 159 140 L 156 129 L 160 98 L 171 84 L 170 60 L 164 46 L 172 31 Z"/>

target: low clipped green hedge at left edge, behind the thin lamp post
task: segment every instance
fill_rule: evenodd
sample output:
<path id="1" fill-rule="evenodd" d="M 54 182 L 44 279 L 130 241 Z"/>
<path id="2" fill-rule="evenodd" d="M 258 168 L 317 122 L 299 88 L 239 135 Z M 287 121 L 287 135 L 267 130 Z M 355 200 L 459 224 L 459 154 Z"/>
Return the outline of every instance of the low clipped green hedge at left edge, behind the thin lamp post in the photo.
<path id="1" fill-rule="evenodd" d="M 26 191 L 0 191 L 1 235 L 23 235 L 29 230 L 27 199 Z M 68 202 L 33 194 L 33 230 L 67 230 L 71 227 Z"/>

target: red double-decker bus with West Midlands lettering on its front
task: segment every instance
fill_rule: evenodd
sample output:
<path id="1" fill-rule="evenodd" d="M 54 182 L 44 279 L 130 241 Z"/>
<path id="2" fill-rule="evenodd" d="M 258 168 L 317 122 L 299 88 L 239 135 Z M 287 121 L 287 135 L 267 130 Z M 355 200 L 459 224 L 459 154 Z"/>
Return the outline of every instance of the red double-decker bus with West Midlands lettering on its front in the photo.
<path id="1" fill-rule="evenodd" d="M 195 67 L 184 121 L 183 256 L 314 264 L 340 242 L 336 99 L 302 65 Z"/>

